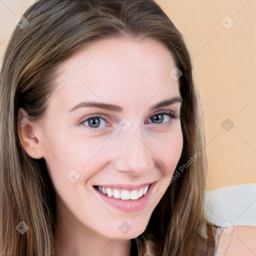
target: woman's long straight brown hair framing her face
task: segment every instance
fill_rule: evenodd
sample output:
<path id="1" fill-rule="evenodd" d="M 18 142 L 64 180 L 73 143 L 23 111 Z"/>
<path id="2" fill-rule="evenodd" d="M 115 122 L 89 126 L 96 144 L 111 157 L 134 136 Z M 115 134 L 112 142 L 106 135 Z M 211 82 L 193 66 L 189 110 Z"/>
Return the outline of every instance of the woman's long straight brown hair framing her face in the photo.
<path id="1" fill-rule="evenodd" d="M 146 241 L 158 256 L 214 255 L 215 227 L 203 210 L 206 156 L 198 95 L 189 53 L 170 19 L 153 0 L 38 0 L 23 16 L 28 21 L 14 29 L 0 73 L 0 255 L 54 255 L 56 192 L 44 159 L 29 157 L 19 143 L 19 107 L 40 118 L 61 61 L 97 40 L 124 35 L 161 42 L 182 72 L 176 179 L 145 231 L 132 239 L 133 255 L 145 253 Z M 24 234 L 16 230 L 20 221 L 29 226 Z"/>

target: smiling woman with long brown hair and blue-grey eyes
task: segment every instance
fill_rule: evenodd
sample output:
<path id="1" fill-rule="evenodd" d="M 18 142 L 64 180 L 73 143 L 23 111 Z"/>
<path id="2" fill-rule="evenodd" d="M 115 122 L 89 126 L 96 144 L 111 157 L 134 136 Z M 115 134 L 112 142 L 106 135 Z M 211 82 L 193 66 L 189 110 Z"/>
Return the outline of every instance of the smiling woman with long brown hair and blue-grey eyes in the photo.
<path id="1" fill-rule="evenodd" d="M 0 255 L 214 255 L 189 54 L 156 3 L 37 1 L 0 93 Z"/>

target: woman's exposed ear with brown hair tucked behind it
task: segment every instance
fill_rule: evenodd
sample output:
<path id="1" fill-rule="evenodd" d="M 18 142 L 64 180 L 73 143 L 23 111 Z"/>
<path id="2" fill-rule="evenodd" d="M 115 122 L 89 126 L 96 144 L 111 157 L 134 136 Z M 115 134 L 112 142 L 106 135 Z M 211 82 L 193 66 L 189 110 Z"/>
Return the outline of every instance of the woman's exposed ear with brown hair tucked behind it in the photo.
<path id="1" fill-rule="evenodd" d="M 26 111 L 21 107 L 18 109 L 17 126 L 19 141 L 26 153 L 32 158 L 42 158 L 42 145 L 35 135 L 37 134 L 36 123 L 29 120 Z"/>

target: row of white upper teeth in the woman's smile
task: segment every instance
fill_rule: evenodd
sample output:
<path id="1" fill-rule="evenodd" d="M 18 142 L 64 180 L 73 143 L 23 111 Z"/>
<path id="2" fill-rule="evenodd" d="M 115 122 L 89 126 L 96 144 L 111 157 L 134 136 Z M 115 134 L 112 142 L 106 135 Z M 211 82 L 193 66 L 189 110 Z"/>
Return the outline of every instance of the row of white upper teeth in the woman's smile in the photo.
<path id="1" fill-rule="evenodd" d="M 132 191 L 126 190 L 126 189 L 116 189 L 113 188 L 111 189 L 110 187 L 103 187 L 103 186 L 97 186 L 98 190 L 103 193 L 108 195 L 109 197 L 113 196 L 116 199 L 122 199 L 122 200 L 135 200 L 141 197 L 142 195 L 146 194 L 147 189 L 149 185 L 146 185 L 144 187 L 141 187 L 139 189 L 134 189 Z"/>

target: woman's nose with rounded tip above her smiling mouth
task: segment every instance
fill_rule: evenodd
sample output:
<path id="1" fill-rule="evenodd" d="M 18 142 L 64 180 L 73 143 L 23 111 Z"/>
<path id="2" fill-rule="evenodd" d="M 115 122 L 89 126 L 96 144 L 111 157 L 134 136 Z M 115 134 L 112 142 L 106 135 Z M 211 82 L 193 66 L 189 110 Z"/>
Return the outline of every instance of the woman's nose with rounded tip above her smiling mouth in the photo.
<path id="1" fill-rule="evenodd" d="M 153 150 L 139 129 L 121 131 L 116 136 L 114 168 L 118 171 L 144 175 L 154 167 Z"/>

